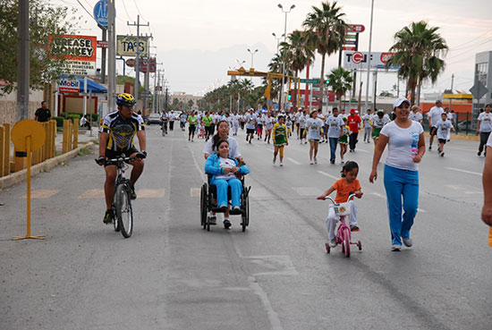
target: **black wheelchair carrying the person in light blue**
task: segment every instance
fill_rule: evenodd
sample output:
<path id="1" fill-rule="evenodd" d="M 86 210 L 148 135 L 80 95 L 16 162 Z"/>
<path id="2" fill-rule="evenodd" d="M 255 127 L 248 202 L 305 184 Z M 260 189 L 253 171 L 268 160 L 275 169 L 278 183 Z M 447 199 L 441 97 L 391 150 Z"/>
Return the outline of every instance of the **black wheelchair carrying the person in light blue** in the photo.
<path id="1" fill-rule="evenodd" d="M 224 213 L 223 208 L 216 207 L 214 199 L 216 200 L 216 186 L 210 185 L 210 179 L 212 175 L 208 174 L 208 182 L 203 183 L 200 190 L 200 222 L 204 230 L 210 231 L 210 215 L 209 213 Z M 242 217 L 242 232 L 246 231 L 246 227 L 250 225 L 250 190 L 251 187 L 246 187 L 244 185 L 244 175 L 241 178 L 242 183 L 242 193 L 241 193 L 241 209 L 239 210 L 229 210 L 231 216 L 241 216 Z M 231 187 L 227 189 L 227 200 L 231 200 Z"/>

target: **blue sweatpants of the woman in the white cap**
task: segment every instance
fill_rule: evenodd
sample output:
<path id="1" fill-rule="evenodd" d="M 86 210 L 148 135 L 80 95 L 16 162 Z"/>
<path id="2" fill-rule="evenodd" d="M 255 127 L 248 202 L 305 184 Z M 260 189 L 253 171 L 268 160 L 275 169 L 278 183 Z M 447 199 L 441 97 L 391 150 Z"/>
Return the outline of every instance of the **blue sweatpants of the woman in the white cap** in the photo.
<path id="1" fill-rule="evenodd" d="M 385 165 L 385 189 L 391 241 L 392 244 L 402 245 L 402 238 L 410 237 L 411 225 L 419 207 L 419 171 Z"/>

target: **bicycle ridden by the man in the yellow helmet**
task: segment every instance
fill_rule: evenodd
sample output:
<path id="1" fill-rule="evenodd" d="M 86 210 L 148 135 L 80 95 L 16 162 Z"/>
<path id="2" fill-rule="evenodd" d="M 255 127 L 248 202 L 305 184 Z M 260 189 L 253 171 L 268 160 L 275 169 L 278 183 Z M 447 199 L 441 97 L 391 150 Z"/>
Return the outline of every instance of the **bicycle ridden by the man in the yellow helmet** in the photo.
<path id="1" fill-rule="evenodd" d="M 131 208 L 130 198 L 130 180 L 123 174 L 128 168 L 130 162 L 135 161 L 137 158 L 145 158 L 144 155 L 137 154 L 135 157 L 117 157 L 113 159 L 107 159 L 106 163 L 116 165 L 116 182 L 115 182 L 115 199 L 113 199 L 113 224 L 115 226 L 115 232 L 121 232 L 124 238 L 131 237 L 133 233 L 133 211 Z M 95 159 L 98 163 L 98 159 Z M 126 164 L 125 164 L 126 163 Z"/>

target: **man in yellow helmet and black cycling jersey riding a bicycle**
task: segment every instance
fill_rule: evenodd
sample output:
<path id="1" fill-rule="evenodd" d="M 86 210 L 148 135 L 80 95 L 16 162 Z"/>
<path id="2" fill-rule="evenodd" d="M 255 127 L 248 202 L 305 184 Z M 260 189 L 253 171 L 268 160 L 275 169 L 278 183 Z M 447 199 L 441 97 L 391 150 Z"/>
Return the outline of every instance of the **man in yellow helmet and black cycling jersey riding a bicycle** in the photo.
<path id="1" fill-rule="evenodd" d="M 133 166 L 130 176 L 131 199 L 136 199 L 135 182 L 143 172 L 144 161 L 147 157 L 145 125 L 139 114 L 133 112 L 135 106 L 135 98 L 131 94 L 119 94 L 116 97 L 116 105 L 118 110 L 107 114 L 100 129 L 99 138 L 99 158 L 98 165 L 105 165 L 106 182 L 104 185 L 106 197 L 106 215 L 103 222 L 111 224 L 115 217 L 111 207 L 115 197 L 115 180 L 116 180 L 116 165 L 108 162 L 108 159 L 124 155 L 125 157 L 136 157 L 130 165 Z M 139 138 L 141 151 L 137 150 L 133 145 L 135 134 Z"/>

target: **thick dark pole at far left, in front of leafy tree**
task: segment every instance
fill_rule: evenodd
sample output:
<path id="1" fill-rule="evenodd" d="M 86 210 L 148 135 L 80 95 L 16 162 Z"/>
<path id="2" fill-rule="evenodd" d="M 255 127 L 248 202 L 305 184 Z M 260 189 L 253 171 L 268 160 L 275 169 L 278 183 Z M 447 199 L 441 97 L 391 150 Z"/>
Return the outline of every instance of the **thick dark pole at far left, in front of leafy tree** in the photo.
<path id="1" fill-rule="evenodd" d="M 19 0 L 17 37 L 17 121 L 29 118 L 30 47 L 29 0 Z M 7 155 L 8 156 L 8 155 Z"/>

